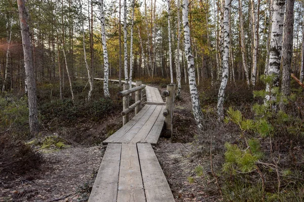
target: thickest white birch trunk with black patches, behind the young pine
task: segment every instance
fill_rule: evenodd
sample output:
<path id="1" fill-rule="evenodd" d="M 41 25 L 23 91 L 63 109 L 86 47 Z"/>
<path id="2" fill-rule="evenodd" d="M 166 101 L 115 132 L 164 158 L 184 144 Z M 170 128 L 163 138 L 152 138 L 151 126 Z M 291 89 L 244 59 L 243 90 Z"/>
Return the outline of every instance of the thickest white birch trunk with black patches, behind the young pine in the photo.
<path id="1" fill-rule="evenodd" d="M 274 0 L 273 11 L 268 75 L 274 76 L 272 86 L 278 87 L 280 81 L 285 0 Z M 266 92 L 270 92 L 271 88 L 270 84 L 266 84 Z M 271 100 L 271 105 L 275 108 L 274 101 L 276 98 L 272 92 L 270 94 L 265 96 L 265 104 Z"/>

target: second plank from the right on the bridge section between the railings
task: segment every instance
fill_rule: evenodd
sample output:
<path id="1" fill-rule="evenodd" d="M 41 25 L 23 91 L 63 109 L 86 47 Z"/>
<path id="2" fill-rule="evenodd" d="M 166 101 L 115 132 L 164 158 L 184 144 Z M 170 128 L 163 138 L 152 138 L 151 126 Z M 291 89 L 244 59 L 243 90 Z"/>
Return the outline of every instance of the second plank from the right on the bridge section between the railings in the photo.
<path id="1" fill-rule="evenodd" d="M 153 128 L 160 113 L 162 113 L 162 107 L 163 106 L 161 105 L 158 105 L 156 107 L 153 114 L 150 116 L 147 122 L 142 126 L 142 128 L 137 132 L 137 134 L 133 137 L 133 139 L 130 142 L 137 143 L 143 141 L 146 138 L 150 130 Z"/>

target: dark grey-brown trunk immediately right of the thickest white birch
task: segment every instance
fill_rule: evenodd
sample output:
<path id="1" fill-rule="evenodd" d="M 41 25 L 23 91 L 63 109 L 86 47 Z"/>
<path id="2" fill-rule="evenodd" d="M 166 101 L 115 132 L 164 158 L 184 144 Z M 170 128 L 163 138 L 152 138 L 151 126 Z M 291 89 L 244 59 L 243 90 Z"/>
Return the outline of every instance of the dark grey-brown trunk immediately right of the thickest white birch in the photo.
<path id="1" fill-rule="evenodd" d="M 292 61 L 292 44 L 293 44 L 293 9 L 295 0 L 288 0 L 285 9 L 285 22 L 283 34 L 283 49 L 282 49 L 282 85 L 281 92 L 284 96 L 290 94 L 290 73 Z"/>

